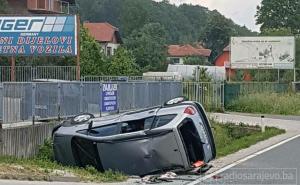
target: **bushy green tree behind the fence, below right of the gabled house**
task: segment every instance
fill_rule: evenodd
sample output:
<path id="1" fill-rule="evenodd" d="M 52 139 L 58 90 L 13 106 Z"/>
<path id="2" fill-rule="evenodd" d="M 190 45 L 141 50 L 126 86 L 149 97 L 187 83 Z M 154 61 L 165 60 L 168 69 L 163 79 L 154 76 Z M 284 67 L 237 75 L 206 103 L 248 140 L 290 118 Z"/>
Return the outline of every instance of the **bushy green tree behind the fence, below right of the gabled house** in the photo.
<path id="1" fill-rule="evenodd" d="M 107 63 L 107 73 L 114 76 L 135 76 L 139 75 L 139 66 L 130 51 L 120 47 Z"/>

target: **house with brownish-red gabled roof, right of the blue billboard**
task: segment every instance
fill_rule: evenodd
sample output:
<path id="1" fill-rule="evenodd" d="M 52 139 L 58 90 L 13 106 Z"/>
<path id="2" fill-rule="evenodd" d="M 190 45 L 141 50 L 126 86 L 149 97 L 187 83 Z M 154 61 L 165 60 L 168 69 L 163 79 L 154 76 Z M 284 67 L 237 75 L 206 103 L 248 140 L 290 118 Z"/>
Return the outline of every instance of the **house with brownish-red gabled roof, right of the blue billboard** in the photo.
<path id="1" fill-rule="evenodd" d="M 107 22 L 84 23 L 83 26 L 100 43 L 107 56 L 114 55 L 120 44 L 122 44 L 119 29 Z"/>

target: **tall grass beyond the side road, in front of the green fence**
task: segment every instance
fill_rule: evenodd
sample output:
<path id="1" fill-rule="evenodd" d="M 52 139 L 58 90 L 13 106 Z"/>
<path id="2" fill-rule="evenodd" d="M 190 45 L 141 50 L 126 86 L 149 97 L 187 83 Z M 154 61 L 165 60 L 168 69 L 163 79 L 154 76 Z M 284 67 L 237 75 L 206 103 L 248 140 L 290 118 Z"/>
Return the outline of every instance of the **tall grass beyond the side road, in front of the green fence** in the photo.
<path id="1" fill-rule="evenodd" d="M 226 110 L 247 113 L 300 116 L 300 94 L 260 93 L 241 96 L 226 106 Z"/>

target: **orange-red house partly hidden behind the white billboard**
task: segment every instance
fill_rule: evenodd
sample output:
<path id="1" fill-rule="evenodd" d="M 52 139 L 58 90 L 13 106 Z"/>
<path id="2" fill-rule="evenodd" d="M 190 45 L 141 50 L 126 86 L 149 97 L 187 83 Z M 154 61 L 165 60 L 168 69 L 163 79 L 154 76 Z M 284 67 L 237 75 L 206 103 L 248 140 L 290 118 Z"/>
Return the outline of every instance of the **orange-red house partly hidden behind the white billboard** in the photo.
<path id="1" fill-rule="evenodd" d="M 220 67 L 225 66 L 226 78 L 228 80 L 236 78 L 236 70 L 231 69 L 231 66 L 230 66 L 230 54 L 231 54 L 231 47 L 230 47 L 230 45 L 228 45 L 223 49 L 223 52 L 214 61 L 215 66 L 220 66 Z M 244 81 L 252 80 L 252 77 L 251 77 L 251 74 L 249 73 L 249 71 L 244 70 L 243 80 Z"/>

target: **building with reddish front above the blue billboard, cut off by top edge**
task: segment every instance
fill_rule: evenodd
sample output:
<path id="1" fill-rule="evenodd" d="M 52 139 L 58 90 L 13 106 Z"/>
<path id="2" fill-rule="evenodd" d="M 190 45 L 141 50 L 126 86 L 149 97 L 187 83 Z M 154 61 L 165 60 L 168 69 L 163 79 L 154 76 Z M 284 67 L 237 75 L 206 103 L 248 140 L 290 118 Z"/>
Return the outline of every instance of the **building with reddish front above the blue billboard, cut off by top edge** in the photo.
<path id="1" fill-rule="evenodd" d="M 7 3 L 9 14 L 69 14 L 75 0 L 7 0 Z"/>

